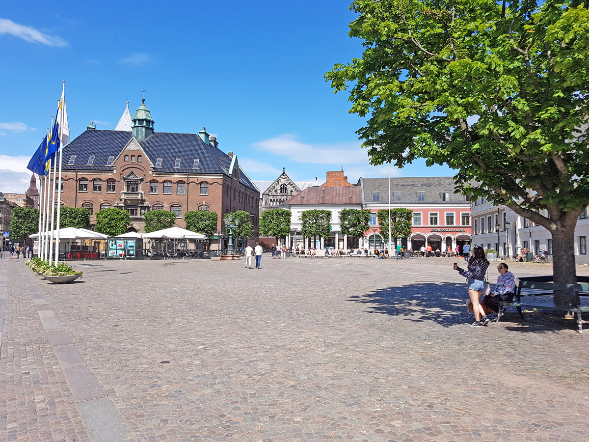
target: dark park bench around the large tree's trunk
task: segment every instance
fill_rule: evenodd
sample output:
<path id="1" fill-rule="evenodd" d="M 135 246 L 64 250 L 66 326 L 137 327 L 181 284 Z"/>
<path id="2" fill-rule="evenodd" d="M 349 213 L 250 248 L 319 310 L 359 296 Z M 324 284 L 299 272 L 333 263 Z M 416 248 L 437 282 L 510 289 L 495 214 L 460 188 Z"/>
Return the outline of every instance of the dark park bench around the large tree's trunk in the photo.
<path id="1" fill-rule="evenodd" d="M 515 299 L 509 301 L 499 301 L 499 309 L 502 306 L 511 306 L 517 308 L 519 316 L 524 319 L 522 313 L 522 307 L 534 308 L 538 310 L 547 311 L 561 311 L 561 312 L 572 312 L 577 314 L 577 324 L 579 333 L 583 333 L 583 320 L 581 314 L 583 312 L 589 312 L 589 305 L 578 305 L 578 306 L 566 306 L 566 305 L 554 305 L 552 296 L 555 291 L 560 292 L 571 292 L 578 293 L 579 296 L 589 296 L 589 276 L 577 276 L 576 284 L 557 284 L 552 282 L 552 275 L 550 276 L 530 276 L 528 278 L 518 278 L 517 292 L 515 293 Z M 535 292 L 524 292 L 522 290 L 534 290 Z M 537 292 L 540 291 L 540 292 Z M 542 296 L 550 296 L 546 298 L 547 302 L 541 302 L 537 298 Z M 552 301 L 552 304 L 550 303 Z M 500 315 L 497 315 L 495 322 L 499 322 Z"/>

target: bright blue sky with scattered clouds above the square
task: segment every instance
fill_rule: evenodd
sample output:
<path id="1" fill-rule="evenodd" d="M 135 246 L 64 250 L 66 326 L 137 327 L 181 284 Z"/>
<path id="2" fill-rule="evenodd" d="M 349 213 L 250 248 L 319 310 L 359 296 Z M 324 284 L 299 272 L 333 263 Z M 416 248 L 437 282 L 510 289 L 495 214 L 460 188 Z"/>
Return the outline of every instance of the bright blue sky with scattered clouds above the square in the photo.
<path id="1" fill-rule="evenodd" d="M 114 129 L 130 101 L 155 130 L 197 133 L 237 154 L 254 180 L 294 180 L 369 165 L 348 95 L 323 74 L 362 54 L 348 1 L 4 2 L 0 11 L 0 192 L 22 190 L 66 81 L 71 136 Z M 396 176 L 449 175 L 417 161 Z M 24 182 L 22 181 L 24 180 Z"/>

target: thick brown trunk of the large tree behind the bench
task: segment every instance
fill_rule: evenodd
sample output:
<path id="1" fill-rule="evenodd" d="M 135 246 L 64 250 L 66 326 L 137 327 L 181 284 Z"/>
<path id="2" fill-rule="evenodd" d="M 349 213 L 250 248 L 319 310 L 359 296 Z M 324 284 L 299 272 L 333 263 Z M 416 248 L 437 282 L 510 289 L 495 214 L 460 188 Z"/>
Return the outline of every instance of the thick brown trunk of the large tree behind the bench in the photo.
<path id="1" fill-rule="evenodd" d="M 575 267 L 575 225 L 577 217 L 573 220 L 565 216 L 560 225 L 555 225 L 552 234 L 552 275 L 555 283 L 576 284 L 577 269 Z M 554 292 L 555 305 L 580 305 L 578 293 Z"/>

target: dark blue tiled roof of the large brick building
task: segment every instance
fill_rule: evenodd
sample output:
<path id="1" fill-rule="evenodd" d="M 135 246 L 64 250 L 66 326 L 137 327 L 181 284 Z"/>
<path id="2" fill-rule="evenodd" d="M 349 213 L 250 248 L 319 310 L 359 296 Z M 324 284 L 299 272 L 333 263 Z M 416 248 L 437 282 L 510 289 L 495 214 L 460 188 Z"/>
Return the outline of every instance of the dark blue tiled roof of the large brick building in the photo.
<path id="1" fill-rule="evenodd" d="M 131 132 L 120 130 L 87 130 L 65 146 L 62 167 L 75 170 L 112 170 L 111 166 L 107 166 L 108 157 L 116 158 L 131 136 Z M 154 132 L 147 140 L 138 141 L 154 166 L 158 158 L 162 159 L 161 167 L 153 169 L 156 172 L 229 173 L 231 157 L 204 143 L 198 134 Z M 75 162 L 67 164 L 71 155 L 76 155 Z M 88 166 L 88 157 L 91 155 L 95 156 L 94 164 Z M 177 158 L 181 160 L 180 167 L 174 167 Z M 193 169 L 195 159 L 199 160 L 198 169 Z M 245 173 L 241 173 L 240 181 L 256 189 Z"/>

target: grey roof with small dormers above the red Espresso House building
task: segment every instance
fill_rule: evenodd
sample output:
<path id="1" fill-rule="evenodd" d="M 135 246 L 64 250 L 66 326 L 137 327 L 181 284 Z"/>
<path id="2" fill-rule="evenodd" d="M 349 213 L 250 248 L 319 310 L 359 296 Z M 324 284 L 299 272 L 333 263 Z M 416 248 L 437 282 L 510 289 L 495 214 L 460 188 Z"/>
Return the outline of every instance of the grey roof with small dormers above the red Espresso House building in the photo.
<path id="1" fill-rule="evenodd" d="M 360 178 L 364 191 L 364 202 L 373 203 L 372 192 L 379 192 L 379 203 L 388 204 L 389 180 L 388 178 Z M 466 203 L 466 198 L 460 193 L 454 193 L 454 177 L 391 177 L 391 197 L 393 192 L 401 192 L 401 203 L 416 204 L 455 204 Z M 418 201 L 418 192 L 425 192 L 425 201 Z M 450 200 L 442 202 L 442 192 L 450 193 Z M 391 201 L 399 204 L 399 201 Z"/>

